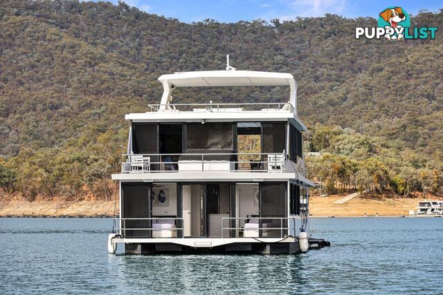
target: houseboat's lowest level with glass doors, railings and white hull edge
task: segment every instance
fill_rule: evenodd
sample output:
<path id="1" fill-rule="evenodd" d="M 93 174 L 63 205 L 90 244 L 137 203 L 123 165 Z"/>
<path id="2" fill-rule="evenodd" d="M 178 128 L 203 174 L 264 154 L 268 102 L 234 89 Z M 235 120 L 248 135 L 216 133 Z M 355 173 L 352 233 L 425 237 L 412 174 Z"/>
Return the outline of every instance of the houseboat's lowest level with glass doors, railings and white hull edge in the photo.
<path id="1" fill-rule="evenodd" d="M 307 196 L 291 181 L 120 182 L 113 242 L 127 253 L 293 253 L 309 230 Z"/>

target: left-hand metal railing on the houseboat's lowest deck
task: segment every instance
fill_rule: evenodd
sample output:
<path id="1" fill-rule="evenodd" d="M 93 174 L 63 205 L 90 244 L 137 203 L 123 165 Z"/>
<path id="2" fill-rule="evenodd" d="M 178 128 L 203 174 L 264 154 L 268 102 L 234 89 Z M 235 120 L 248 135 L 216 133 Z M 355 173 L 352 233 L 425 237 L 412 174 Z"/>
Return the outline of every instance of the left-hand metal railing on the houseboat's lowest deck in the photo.
<path id="1" fill-rule="evenodd" d="M 177 234 L 177 231 L 182 231 L 184 230 L 185 227 L 185 222 L 183 220 L 183 218 L 181 217 L 165 217 L 165 218 L 160 218 L 160 217 L 152 217 L 152 218 L 113 218 L 113 225 L 112 225 L 112 232 L 114 232 L 115 234 L 118 234 L 119 236 L 123 236 L 123 238 L 126 238 L 126 231 L 152 231 L 152 233 L 154 231 L 165 231 L 166 229 L 154 229 L 153 225 L 155 223 L 151 224 L 151 227 L 126 227 L 126 223 L 127 220 L 133 220 L 133 221 L 153 221 L 153 220 L 174 220 L 174 228 L 171 228 L 170 231 L 174 232 Z M 181 227 L 177 227 L 177 221 L 180 220 L 181 221 Z M 184 233 L 181 235 L 182 238 L 184 238 Z M 147 238 L 155 238 L 155 237 L 147 237 Z"/>

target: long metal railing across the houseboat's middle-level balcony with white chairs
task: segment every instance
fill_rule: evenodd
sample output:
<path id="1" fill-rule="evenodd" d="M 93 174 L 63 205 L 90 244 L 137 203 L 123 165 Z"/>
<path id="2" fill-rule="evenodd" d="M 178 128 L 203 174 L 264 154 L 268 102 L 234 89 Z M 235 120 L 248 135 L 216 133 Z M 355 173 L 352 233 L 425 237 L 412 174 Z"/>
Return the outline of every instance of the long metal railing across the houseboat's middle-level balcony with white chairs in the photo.
<path id="1" fill-rule="evenodd" d="M 127 161 L 122 163 L 122 173 L 196 171 L 286 172 L 288 159 L 287 153 L 154 153 L 123 154 L 123 156 L 127 158 Z M 134 162 L 133 158 L 139 159 L 140 156 L 143 156 L 143 158 L 149 158 L 149 161 L 145 162 L 147 168 L 143 168 L 142 165 L 142 169 L 138 169 L 138 167 L 141 166 L 141 162 Z M 182 156 L 188 159 L 180 160 L 180 157 Z M 208 159 L 213 158 L 214 156 L 226 156 L 228 159 Z M 272 160 L 269 160 L 269 158 L 272 158 Z M 225 164 L 225 166 L 217 164 Z"/>

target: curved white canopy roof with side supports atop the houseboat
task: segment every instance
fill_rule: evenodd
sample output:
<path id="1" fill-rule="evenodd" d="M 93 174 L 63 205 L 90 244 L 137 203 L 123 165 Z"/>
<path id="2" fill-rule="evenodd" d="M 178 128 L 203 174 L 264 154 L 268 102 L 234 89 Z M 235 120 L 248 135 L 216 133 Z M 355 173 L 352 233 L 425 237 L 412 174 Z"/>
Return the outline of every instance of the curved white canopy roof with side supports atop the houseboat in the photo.
<path id="1" fill-rule="evenodd" d="M 172 101 L 175 87 L 210 87 L 210 86 L 289 86 L 289 102 L 297 108 L 296 80 L 289 73 L 255 72 L 251 70 L 205 70 L 161 75 L 163 84 L 160 111 Z"/>

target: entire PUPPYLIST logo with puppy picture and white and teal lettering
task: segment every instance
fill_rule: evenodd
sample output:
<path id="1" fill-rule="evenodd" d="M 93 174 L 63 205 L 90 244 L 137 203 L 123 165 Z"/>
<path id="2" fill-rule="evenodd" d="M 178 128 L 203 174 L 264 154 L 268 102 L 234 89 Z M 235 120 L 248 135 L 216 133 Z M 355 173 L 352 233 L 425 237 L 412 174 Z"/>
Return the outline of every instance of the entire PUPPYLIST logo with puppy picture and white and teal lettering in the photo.
<path id="1" fill-rule="evenodd" d="M 380 12 L 377 28 L 355 28 L 355 39 L 435 39 L 436 27 L 410 28 L 408 12 L 398 6 L 391 6 Z"/>

